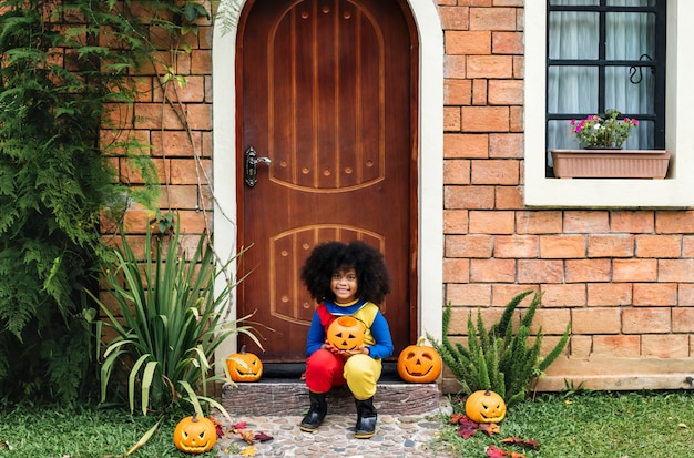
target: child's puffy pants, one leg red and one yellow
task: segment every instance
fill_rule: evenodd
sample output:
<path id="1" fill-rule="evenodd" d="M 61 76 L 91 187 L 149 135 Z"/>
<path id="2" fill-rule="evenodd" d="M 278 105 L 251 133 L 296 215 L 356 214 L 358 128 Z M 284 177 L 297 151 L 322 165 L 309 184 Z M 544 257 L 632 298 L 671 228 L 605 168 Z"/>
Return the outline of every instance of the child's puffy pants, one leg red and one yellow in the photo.
<path id="1" fill-rule="evenodd" d="M 306 360 L 306 386 L 314 393 L 328 393 L 347 384 L 355 398 L 364 400 L 376 394 L 380 372 L 380 359 L 354 355 L 344 362 L 330 350 L 319 349 Z"/>

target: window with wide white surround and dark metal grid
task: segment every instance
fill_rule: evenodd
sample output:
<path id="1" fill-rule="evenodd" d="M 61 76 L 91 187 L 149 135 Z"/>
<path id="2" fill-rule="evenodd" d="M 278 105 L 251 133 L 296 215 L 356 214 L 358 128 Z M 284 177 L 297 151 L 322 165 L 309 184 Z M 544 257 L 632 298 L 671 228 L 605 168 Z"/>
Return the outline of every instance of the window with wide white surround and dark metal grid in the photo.
<path id="1" fill-rule="evenodd" d="M 694 1 L 530 1 L 524 17 L 525 204 L 694 205 Z M 552 177 L 547 150 L 578 146 L 569 121 L 610 108 L 640 121 L 625 147 L 672 153 L 667 179 Z"/>

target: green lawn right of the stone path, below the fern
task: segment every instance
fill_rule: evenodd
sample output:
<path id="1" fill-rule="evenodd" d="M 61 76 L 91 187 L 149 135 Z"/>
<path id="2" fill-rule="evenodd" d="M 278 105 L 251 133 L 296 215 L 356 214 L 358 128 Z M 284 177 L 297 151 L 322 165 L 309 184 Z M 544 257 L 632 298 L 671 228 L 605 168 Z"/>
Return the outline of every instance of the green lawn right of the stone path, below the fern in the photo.
<path id="1" fill-rule="evenodd" d="M 452 400 L 453 411 L 465 406 Z M 452 456 L 484 458 L 489 445 L 531 457 L 684 458 L 694 457 L 694 394 L 583 393 L 540 395 L 514 406 L 500 424 L 501 434 L 478 431 L 465 440 L 443 424 L 435 448 Z M 500 444 L 507 437 L 534 439 L 540 449 Z"/>

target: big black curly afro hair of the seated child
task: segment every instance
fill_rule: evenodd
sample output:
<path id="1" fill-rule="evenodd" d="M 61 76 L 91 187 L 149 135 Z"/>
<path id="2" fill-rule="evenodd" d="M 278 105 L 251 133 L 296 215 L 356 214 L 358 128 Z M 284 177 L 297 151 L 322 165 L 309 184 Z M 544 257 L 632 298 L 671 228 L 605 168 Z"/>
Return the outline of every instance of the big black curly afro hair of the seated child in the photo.
<path id="1" fill-rule="evenodd" d="M 390 275 L 384 255 L 360 241 L 317 245 L 302 268 L 302 282 L 316 302 L 335 301 L 330 291 L 333 274 L 349 268 L 357 273 L 357 297 L 381 304 L 390 293 Z"/>

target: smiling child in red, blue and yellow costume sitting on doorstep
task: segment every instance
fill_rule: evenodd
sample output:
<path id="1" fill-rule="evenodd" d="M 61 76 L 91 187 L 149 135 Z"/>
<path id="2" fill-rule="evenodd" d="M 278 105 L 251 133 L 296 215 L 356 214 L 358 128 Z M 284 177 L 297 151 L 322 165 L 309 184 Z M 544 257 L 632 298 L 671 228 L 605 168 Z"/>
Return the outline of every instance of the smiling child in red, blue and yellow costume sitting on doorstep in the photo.
<path id="1" fill-rule="evenodd" d="M 315 431 L 327 413 L 326 393 L 347 384 L 357 405 L 355 437 L 368 439 L 376 431 L 374 407 L 381 359 L 392 355 L 388 322 L 378 304 L 390 292 L 390 278 L 380 252 L 364 242 L 323 243 L 314 248 L 302 269 L 302 281 L 320 304 L 314 313 L 306 343 L 306 386 L 310 408 L 299 428 Z M 361 347 L 340 350 L 326 339 L 330 323 L 339 316 L 361 322 Z"/>

